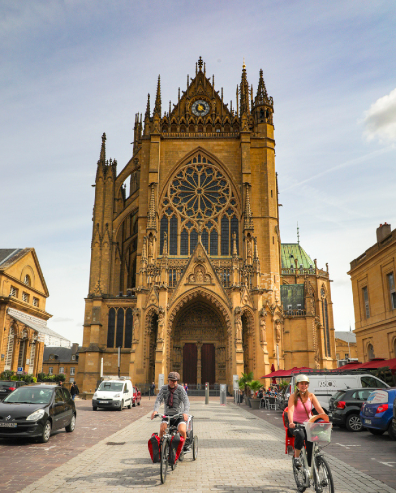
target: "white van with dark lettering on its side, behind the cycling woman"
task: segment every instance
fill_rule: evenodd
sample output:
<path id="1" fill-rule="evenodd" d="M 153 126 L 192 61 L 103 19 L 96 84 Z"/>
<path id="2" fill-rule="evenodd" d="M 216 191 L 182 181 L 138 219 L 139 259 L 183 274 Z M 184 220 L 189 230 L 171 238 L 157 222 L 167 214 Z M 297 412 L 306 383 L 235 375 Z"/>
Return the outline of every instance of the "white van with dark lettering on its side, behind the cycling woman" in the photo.
<path id="1" fill-rule="evenodd" d="M 374 388 L 389 388 L 385 382 L 373 376 L 371 373 L 357 372 L 357 371 L 342 371 L 340 373 L 313 370 L 307 372 L 301 372 L 303 375 L 307 375 L 309 378 L 309 391 L 314 393 L 322 406 L 324 411 L 327 413 L 329 411 L 329 399 L 330 397 L 340 391 L 348 388 L 364 388 L 364 387 L 374 387 Z M 291 392 L 295 389 L 296 376 L 300 374 L 297 373 L 292 376 Z"/>

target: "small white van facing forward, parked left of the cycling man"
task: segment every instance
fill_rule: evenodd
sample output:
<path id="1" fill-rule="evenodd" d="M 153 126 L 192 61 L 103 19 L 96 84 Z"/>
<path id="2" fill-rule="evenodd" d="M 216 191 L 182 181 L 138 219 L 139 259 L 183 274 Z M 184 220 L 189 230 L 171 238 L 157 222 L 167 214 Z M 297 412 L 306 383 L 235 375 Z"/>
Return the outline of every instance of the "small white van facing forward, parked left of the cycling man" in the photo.
<path id="1" fill-rule="evenodd" d="M 98 407 L 122 411 L 124 406 L 129 409 L 133 402 L 133 387 L 130 377 L 102 377 L 103 381 L 92 396 L 92 409 Z"/>

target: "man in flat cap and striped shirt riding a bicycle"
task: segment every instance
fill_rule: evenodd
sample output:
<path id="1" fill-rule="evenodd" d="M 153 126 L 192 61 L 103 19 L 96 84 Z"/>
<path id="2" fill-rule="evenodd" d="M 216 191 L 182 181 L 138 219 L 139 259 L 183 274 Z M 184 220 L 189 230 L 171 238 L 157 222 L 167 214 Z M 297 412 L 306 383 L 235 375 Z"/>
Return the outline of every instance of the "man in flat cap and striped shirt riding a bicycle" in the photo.
<path id="1" fill-rule="evenodd" d="M 173 416 L 177 413 L 183 413 L 183 418 L 177 418 L 174 420 L 174 425 L 177 426 L 177 429 L 181 436 L 183 436 L 184 440 L 186 440 L 186 423 L 188 420 L 187 413 L 190 410 L 190 402 L 187 397 L 186 391 L 184 390 L 182 385 L 178 385 L 178 381 L 180 380 L 180 375 L 176 371 L 171 371 L 168 375 L 168 385 L 163 385 L 157 395 L 154 404 L 154 410 L 151 414 L 151 419 L 158 414 L 159 406 L 162 401 L 165 405 L 165 416 Z M 168 424 L 166 421 L 161 422 L 161 426 L 159 429 L 159 437 L 162 438 Z"/>

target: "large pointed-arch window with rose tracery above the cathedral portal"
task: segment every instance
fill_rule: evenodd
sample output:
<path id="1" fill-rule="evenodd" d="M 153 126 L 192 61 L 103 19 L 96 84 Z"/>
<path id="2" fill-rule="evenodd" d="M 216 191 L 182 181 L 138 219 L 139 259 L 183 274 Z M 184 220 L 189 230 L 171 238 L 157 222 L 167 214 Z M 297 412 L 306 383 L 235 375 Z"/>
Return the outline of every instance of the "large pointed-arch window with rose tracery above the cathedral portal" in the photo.
<path id="1" fill-rule="evenodd" d="M 166 232 L 169 255 L 191 255 L 200 230 L 209 255 L 231 256 L 232 234 L 235 232 L 238 239 L 239 217 L 230 180 L 199 152 L 177 171 L 160 203 L 160 254 Z"/>

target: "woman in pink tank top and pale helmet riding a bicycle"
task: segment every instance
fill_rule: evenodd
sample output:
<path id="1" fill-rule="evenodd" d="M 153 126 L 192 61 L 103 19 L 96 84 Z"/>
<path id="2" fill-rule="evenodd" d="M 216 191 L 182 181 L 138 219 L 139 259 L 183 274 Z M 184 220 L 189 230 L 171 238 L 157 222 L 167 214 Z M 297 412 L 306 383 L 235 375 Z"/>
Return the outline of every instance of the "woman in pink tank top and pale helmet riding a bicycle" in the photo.
<path id="1" fill-rule="evenodd" d="M 300 453 L 304 446 L 304 440 L 306 443 L 309 465 L 311 464 L 313 444 L 312 442 L 307 441 L 305 428 L 296 429 L 296 424 L 302 424 L 312 417 L 312 407 L 314 407 L 319 414 L 323 414 L 324 417 L 326 417 L 326 414 L 315 395 L 308 392 L 309 378 L 306 375 L 298 375 L 296 377 L 296 386 L 295 392 L 290 395 L 288 401 L 289 424 L 287 426 L 290 433 L 295 437 L 294 464 L 296 467 L 301 467 Z"/>

